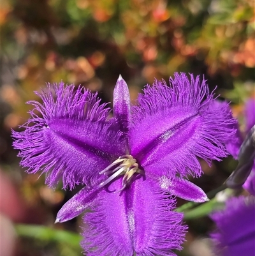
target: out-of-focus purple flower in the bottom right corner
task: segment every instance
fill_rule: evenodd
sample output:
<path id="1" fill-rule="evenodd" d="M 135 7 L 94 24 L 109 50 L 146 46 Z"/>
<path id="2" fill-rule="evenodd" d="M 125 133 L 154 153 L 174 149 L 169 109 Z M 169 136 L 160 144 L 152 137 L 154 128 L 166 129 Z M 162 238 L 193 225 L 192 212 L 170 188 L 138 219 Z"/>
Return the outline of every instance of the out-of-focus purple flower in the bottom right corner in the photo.
<path id="1" fill-rule="evenodd" d="M 254 256 L 255 198 L 238 197 L 226 202 L 226 208 L 215 212 L 212 220 L 217 230 L 212 234 L 216 255 Z"/>

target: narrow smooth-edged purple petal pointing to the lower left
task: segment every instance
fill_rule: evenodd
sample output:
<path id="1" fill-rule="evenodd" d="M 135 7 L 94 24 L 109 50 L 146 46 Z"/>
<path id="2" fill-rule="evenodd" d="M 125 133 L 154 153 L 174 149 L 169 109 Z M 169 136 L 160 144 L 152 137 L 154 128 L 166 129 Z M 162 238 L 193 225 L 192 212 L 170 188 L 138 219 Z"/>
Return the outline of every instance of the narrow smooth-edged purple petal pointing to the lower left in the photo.
<path id="1" fill-rule="evenodd" d="M 94 202 L 98 192 L 98 189 L 90 189 L 87 187 L 82 188 L 82 190 L 80 190 L 71 199 L 69 199 L 64 206 L 62 206 L 57 213 L 55 223 L 67 222 L 68 220 L 82 214 Z"/>

